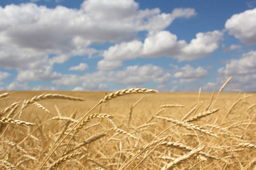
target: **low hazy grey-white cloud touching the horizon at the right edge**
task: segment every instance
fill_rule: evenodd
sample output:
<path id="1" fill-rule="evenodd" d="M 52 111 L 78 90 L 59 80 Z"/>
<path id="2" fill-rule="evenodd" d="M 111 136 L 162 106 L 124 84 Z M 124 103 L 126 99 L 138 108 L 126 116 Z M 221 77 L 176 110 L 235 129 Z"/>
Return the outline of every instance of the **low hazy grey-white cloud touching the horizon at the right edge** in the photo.
<path id="1" fill-rule="evenodd" d="M 256 51 L 242 55 L 240 59 L 233 59 L 225 67 L 218 69 L 218 83 L 224 83 L 233 76 L 227 88 L 242 91 L 255 91 L 256 83 Z"/>

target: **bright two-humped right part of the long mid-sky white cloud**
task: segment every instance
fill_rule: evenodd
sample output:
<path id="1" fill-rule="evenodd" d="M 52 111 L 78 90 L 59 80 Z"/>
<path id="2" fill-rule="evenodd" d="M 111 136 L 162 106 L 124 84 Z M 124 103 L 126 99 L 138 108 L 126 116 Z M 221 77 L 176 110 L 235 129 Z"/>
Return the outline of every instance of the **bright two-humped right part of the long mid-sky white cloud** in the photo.
<path id="1" fill-rule="evenodd" d="M 222 36 L 220 31 L 200 32 L 187 44 L 185 40 L 177 41 L 177 36 L 168 31 L 151 33 L 143 44 L 143 58 L 168 56 L 179 61 L 193 61 L 214 52 Z"/>

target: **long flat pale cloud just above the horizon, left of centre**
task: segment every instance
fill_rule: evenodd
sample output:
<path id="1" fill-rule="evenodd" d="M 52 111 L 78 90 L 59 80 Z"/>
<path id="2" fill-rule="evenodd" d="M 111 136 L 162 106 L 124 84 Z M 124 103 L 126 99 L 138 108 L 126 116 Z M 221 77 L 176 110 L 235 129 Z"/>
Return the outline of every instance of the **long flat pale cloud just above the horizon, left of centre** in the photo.
<path id="1" fill-rule="evenodd" d="M 57 87 L 76 86 L 73 90 L 107 90 L 108 83 L 119 86 L 143 86 L 145 83 L 166 84 L 172 78 L 171 74 L 162 67 L 151 64 L 143 66 L 128 66 L 123 70 L 99 70 L 84 75 L 62 75 L 60 79 L 53 80 Z M 82 87 L 80 86 L 82 84 Z"/>

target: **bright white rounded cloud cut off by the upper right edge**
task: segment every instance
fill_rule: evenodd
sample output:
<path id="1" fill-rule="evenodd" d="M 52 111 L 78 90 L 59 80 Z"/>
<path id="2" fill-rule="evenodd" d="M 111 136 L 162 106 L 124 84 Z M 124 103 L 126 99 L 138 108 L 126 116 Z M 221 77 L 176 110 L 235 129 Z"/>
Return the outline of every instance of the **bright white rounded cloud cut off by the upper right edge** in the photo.
<path id="1" fill-rule="evenodd" d="M 256 8 L 233 15 L 225 28 L 243 43 L 256 44 Z"/>

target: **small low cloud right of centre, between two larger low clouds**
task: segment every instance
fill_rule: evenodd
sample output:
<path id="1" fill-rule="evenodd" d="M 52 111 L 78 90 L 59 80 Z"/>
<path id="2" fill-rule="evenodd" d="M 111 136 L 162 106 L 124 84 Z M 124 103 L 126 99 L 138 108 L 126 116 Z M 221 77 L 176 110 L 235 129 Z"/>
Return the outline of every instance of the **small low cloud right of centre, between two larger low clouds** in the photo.
<path id="1" fill-rule="evenodd" d="M 204 78 L 208 75 L 208 71 L 203 69 L 203 67 L 194 68 L 190 65 L 185 65 L 184 67 L 175 67 L 174 77 L 179 79 L 178 83 L 191 83 Z"/>

